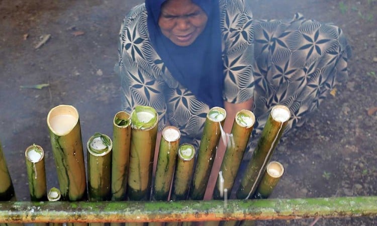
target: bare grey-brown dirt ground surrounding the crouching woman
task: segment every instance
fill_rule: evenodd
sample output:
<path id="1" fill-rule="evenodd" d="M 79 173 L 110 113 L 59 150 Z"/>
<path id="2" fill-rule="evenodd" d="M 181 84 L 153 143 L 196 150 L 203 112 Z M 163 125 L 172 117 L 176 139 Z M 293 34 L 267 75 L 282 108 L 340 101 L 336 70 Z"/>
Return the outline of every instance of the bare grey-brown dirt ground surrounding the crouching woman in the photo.
<path id="1" fill-rule="evenodd" d="M 46 124 L 58 104 L 80 114 L 83 142 L 95 132 L 112 136 L 120 110 L 113 72 L 126 12 L 142 0 L 0 0 L 0 140 L 18 200 L 30 200 L 25 149 L 45 150 L 48 188 L 57 186 Z M 252 0 L 254 18 L 333 22 L 352 46 L 349 80 L 314 117 L 282 139 L 273 160 L 285 175 L 271 198 L 377 195 L 377 1 Z M 50 39 L 35 46 L 45 35 Z M 42 89 L 26 88 L 48 84 Z M 368 114 L 369 113 L 369 114 Z M 258 221 L 257 225 L 310 225 L 314 219 Z M 377 225 L 377 217 L 319 219 L 315 225 Z"/>

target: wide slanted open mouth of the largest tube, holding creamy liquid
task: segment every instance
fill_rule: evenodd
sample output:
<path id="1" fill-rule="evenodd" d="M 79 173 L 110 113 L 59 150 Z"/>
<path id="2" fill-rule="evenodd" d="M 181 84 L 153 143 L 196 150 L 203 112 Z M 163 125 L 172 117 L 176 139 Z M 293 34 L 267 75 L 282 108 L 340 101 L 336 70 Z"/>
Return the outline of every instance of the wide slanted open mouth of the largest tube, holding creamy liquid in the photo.
<path id="1" fill-rule="evenodd" d="M 67 135 L 78 122 L 78 111 L 71 105 L 58 105 L 47 115 L 47 125 L 57 136 Z"/>

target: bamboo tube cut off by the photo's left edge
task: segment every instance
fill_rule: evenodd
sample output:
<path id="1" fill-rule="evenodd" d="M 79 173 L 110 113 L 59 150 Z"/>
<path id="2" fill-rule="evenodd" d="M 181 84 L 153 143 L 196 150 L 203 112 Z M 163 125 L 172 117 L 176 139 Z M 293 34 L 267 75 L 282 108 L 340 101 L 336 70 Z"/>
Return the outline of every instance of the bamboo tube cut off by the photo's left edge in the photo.
<path id="1" fill-rule="evenodd" d="M 2 143 L 0 142 L 0 201 L 15 201 L 16 193 L 2 147 Z"/>

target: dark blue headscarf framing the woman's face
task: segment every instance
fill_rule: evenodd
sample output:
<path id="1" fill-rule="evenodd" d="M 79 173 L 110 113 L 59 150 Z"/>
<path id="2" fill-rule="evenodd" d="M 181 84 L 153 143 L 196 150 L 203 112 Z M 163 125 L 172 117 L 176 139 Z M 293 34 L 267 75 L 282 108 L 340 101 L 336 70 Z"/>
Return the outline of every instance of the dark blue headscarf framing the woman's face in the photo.
<path id="1" fill-rule="evenodd" d="M 223 106 L 224 66 L 221 57 L 218 0 L 192 0 L 207 14 L 206 28 L 186 47 L 166 38 L 158 26 L 161 5 L 167 0 L 145 0 L 150 41 L 172 76 L 210 107 Z"/>

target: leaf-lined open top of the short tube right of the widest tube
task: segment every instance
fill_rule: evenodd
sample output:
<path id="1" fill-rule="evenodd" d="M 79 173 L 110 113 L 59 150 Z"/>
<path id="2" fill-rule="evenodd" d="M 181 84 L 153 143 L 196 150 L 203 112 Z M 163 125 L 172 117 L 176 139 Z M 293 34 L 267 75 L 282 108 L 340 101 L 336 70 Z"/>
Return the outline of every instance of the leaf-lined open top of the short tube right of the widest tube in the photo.
<path id="1" fill-rule="evenodd" d="M 105 156 L 113 148 L 113 142 L 104 134 L 96 133 L 86 143 L 86 148 L 91 155 Z"/>

